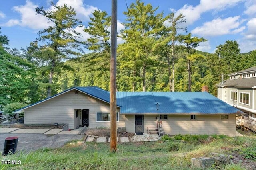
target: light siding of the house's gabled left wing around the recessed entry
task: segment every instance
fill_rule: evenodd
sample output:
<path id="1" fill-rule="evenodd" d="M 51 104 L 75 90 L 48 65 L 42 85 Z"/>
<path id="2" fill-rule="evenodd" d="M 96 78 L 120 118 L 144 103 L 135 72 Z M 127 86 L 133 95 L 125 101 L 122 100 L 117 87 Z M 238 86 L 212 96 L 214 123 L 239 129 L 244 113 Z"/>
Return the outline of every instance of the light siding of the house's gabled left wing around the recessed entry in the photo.
<path id="1" fill-rule="evenodd" d="M 97 112 L 110 112 L 110 104 L 88 96 L 82 92 L 74 93 L 75 90 L 46 100 L 40 104 L 25 109 L 25 124 L 44 123 L 68 123 L 70 129 L 74 129 L 79 124 L 79 115 L 76 118 L 75 109 L 89 109 L 89 127 L 110 127 L 110 122 L 96 122 Z M 117 108 L 120 111 L 119 108 Z M 125 116 L 120 115 L 117 126 L 124 127 Z"/>

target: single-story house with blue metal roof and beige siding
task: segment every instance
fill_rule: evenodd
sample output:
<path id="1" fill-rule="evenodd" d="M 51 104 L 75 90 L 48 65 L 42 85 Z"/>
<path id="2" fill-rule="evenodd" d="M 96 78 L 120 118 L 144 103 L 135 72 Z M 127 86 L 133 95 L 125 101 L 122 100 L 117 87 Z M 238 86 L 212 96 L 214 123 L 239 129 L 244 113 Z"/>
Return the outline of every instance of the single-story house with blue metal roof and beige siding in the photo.
<path id="1" fill-rule="evenodd" d="M 167 134 L 236 135 L 236 115 L 242 111 L 208 92 L 117 92 L 117 127 L 147 133 L 161 127 Z M 15 111 L 25 124 L 68 123 L 110 128 L 110 92 L 73 87 Z"/>

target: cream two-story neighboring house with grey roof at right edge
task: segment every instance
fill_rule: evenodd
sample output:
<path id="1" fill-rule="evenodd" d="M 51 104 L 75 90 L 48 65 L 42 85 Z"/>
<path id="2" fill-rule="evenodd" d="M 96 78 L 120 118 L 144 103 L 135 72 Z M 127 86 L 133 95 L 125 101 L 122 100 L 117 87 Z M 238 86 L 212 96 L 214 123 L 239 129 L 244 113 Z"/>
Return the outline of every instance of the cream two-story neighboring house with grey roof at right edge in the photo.
<path id="1" fill-rule="evenodd" d="M 256 66 L 229 74 L 217 84 L 218 98 L 256 120 Z"/>

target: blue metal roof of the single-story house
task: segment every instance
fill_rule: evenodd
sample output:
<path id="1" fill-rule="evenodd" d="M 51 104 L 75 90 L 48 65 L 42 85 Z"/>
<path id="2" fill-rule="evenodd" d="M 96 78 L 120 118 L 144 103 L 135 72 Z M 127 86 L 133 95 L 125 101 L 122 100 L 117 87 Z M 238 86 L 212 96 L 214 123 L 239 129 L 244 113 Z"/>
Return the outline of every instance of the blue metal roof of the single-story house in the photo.
<path id="1" fill-rule="evenodd" d="M 70 90 L 79 90 L 92 97 L 110 103 L 110 92 L 96 86 L 74 87 Z M 20 112 L 27 107 L 49 100 L 46 98 L 28 105 L 15 112 Z M 207 92 L 117 92 L 117 106 L 124 114 L 241 114 L 242 111 L 230 106 L 226 102 L 212 96 Z M 157 106 L 158 104 L 158 106 Z"/>

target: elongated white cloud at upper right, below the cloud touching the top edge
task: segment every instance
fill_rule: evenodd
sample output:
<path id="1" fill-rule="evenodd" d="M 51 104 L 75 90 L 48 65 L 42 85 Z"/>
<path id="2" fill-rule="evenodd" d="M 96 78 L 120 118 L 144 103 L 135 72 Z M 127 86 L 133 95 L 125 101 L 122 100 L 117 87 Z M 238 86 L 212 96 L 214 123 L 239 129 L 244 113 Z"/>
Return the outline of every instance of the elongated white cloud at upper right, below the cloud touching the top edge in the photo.
<path id="1" fill-rule="evenodd" d="M 192 34 L 201 36 L 216 36 L 225 34 L 236 34 L 244 31 L 245 27 L 239 21 L 240 16 L 217 18 L 204 23 L 201 27 L 196 27 L 191 31 Z"/>

